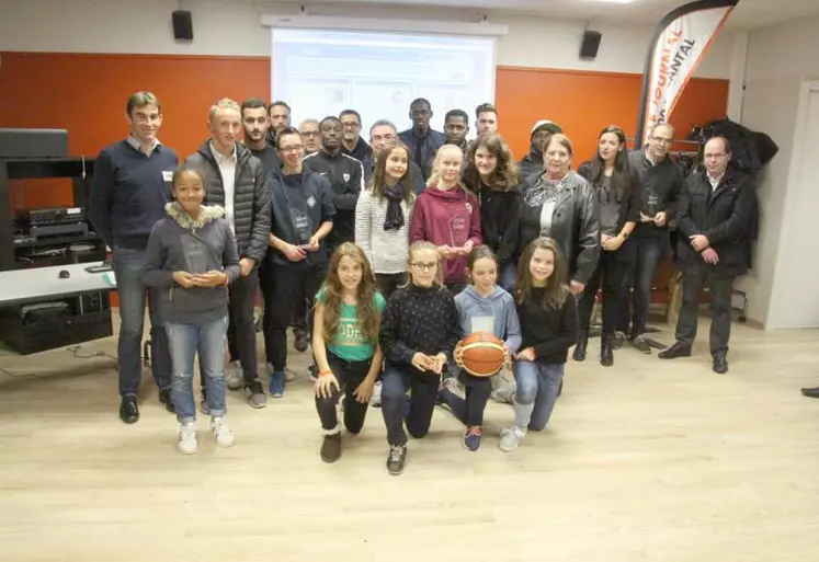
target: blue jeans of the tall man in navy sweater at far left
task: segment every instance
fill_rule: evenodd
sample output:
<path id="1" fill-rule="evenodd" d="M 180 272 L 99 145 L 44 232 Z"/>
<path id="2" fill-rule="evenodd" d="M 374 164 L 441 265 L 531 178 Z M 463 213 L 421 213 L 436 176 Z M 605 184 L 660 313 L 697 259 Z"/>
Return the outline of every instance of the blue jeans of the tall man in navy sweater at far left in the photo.
<path id="1" fill-rule="evenodd" d="M 153 380 L 160 390 L 167 389 L 171 383 L 171 356 L 160 311 L 161 289 L 149 289 L 143 283 L 144 264 L 144 250 L 114 248 L 113 266 L 116 290 L 120 294 L 120 341 L 116 354 L 121 397 L 136 397 L 139 393 L 146 296 L 150 316 L 150 368 Z"/>

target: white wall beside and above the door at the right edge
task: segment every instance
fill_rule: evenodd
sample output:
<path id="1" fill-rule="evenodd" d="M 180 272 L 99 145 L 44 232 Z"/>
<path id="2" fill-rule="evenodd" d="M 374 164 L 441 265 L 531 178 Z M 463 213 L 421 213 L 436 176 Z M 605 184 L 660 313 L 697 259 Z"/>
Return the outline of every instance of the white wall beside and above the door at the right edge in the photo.
<path id="1" fill-rule="evenodd" d="M 751 32 L 749 35 L 746 95 L 742 124 L 769 134 L 780 152 L 763 173 L 758 194 L 762 210 L 755 267 L 738 287 L 749 295 L 749 318 L 767 329 L 793 328 L 787 310 L 800 307 L 799 294 L 788 294 L 793 276 L 819 276 L 814 256 L 796 261 L 787 257 L 789 237 L 811 237 L 814 232 L 782 230 L 787 209 L 797 208 L 800 197 L 790 173 L 797 104 L 801 83 L 819 77 L 819 18 Z M 786 198 L 796 197 L 788 202 Z"/>

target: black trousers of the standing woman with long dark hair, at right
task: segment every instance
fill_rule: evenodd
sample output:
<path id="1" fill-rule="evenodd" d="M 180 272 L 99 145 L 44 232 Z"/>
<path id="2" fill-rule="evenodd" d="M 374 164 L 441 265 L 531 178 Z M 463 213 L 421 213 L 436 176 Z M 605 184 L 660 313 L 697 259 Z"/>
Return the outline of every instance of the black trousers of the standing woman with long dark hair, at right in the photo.
<path id="1" fill-rule="evenodd" d="M 598 268 L 589 278 L 585 290 L 578 303 L 580 330 L 589 330 L 594 298 L 598 289 L 603 287 L 603 333 L 613 334 L 617 329 L 621 310 L 621 291 L 623 278 L 628 273 L 628 264 L 623 262 L 617 252 L 601 252 Z"/>

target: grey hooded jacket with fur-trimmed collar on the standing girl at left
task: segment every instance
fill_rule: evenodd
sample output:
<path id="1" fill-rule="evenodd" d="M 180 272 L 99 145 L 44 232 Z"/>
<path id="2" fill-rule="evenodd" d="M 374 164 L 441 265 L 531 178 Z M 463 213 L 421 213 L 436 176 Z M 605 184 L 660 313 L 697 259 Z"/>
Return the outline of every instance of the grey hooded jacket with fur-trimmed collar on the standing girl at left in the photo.
<path id="1" fill-rule="evenodd" d="M 227 287 L 191 287 L 173 280 L 174 272 L 223 271 L 229 283 L 239 277 L 239 253 L 224 209 L 202 206 L 196 219 L 178 203 L 153 225 L 143 268 L 143 283 L 162 288 L 162 318 L 170 323 L 200 324 L 227 314 Z"/>

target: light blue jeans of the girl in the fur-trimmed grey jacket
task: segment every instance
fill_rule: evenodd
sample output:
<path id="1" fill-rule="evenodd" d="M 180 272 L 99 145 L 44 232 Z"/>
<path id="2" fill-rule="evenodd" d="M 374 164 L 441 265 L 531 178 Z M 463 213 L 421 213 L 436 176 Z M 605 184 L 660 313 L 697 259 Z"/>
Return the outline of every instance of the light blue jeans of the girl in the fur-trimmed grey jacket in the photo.
<path id="1" fill-rule="evenodd" d="M 207 409 L 214 417 L 225 415 L 225 342 L 227 316 L 202 324 L 169 323 L 168 340 L 173 358 L 171 398 L 179 423 L 196 420 L 193 398 L 193 359 L 200 355 L 200 369 L 205 374 Z"/>

